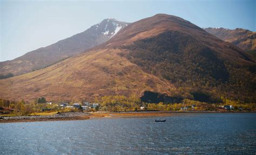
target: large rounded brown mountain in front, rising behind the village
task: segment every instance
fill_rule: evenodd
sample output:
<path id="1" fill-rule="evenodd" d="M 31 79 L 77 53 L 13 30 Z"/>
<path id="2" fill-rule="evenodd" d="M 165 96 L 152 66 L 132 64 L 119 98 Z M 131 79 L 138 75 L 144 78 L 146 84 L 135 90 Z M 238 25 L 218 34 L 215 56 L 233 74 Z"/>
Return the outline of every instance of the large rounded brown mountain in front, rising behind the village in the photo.
<path id="1" fill-rule="evenodd" d="M 129 24 L 72 58 L 0 80 L 0 97 L 80 101 L 138 95 L 149 102 L 152 96 L 255 102 L 255 68 L 254 60 L 237 46 L 187 20 L 158 14 Z"/>

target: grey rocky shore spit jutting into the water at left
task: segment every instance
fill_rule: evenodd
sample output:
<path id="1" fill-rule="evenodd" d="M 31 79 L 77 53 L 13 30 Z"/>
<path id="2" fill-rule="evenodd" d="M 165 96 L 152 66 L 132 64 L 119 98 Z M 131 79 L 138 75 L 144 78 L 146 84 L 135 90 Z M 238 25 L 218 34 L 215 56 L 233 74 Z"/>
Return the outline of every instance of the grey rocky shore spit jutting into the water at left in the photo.
<path id="1" fill-rule="evenodd" d="M 58 112 L 55 115 L 39 116 L 10 116 L 0 117 L 0 123 L 10 122 L 36 122 L 36 121 L 69 121 L 89 119 L 86 112 Z"/>

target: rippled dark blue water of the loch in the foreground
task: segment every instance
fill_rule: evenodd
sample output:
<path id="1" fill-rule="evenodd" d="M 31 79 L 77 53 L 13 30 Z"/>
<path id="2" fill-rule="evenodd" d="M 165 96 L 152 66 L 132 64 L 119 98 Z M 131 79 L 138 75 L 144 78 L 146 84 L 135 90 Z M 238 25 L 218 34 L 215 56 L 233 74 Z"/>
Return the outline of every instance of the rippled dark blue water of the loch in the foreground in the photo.
<path id="1" fill-rule="evenodd" d="M 0 124 L 3 154 L 255 154 L 256 114 Z M 24 128 L 24 129 L 23 129 Z"/>

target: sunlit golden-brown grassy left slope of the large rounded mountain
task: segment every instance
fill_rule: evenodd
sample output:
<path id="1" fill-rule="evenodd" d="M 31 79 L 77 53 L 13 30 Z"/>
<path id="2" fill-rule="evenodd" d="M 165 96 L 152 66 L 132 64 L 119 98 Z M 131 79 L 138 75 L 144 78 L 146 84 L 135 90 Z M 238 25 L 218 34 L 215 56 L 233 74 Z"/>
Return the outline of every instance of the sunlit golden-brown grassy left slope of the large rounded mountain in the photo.
<path id="1" fill-rule="evenodd" d="M 51 101 L 80 101 L 104 95 L 140 95 L 144 90 L 171 95 L 169 90 L 174 88 L 170 82 L 143 72 L 120 57 L 120 52 L 90 51 L 39 71 L 0 80 L 0 97 L 33 100 L 45 96 Z"/>

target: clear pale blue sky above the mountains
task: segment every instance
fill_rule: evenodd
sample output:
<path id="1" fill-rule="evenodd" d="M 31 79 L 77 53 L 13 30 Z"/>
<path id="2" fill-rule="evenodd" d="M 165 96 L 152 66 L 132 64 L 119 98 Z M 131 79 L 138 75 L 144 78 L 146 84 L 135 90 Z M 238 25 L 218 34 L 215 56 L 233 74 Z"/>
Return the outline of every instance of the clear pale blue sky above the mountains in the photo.
<path id="1" fill-rule="evenodd" d="M 5 1 L 0 0 L 0 61 L 56 43 L 106 18 L 136 22 L 157 13 L 199 27 L 256 31 L 256 1 Z"/>

